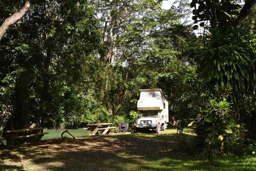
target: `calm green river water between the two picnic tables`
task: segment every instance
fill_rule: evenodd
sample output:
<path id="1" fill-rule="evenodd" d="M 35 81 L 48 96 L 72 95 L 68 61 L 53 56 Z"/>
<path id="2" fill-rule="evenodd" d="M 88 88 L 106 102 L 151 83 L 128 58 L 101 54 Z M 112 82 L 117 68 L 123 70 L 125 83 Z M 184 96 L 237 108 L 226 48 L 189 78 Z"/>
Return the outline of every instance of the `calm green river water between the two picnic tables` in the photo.
<path id="1" fill-rule="evenodd" d="M 45 134 L 41 140 L 48 140 L 48 139 L 54 139 L 54 138 L 61 138 L 61 133 L 65 131 L 66 129 L 47 129 L 44 130 L 44 132 L 48 132 L 49 134 Z M 68 132 L 72 134 L 73 136 L 88 136 L 91 131 L 84 130 L 83 128 L 78 129 L 68 129 Z M 68 133 L 64 133 L 63 136 L 69 137 L 70 135 Z"/>

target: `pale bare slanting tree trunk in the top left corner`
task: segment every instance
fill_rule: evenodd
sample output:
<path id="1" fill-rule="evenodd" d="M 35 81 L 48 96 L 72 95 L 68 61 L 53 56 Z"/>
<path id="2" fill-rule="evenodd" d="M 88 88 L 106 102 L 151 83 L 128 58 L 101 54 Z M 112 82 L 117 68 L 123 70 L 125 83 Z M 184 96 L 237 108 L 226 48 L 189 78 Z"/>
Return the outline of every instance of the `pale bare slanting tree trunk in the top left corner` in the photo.
<path id="1" fill-rule="evenodd" d="M 6 30 L 26 14 L 30 5 L 31 0 L 26 0 L 16 12 L 14 12 L 10 17 L 4 20 L 4 23 L 0 27 L 0 41 L 3 38 Z"/>

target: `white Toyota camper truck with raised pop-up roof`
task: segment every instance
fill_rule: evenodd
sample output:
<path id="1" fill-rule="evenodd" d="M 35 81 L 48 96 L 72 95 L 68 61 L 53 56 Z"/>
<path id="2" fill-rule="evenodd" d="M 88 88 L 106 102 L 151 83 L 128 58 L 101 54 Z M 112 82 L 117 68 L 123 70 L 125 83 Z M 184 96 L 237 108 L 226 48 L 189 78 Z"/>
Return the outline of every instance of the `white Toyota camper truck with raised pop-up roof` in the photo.
<path id="1" fill-rule="evenodd" d="M 137 108 L 140 119 L 136 123 L 136 131 L 153 129 L 159 134 L 165 130 L 169 121 L 168 102 L 164 99 L 161 89 L 140 89 Z"/>

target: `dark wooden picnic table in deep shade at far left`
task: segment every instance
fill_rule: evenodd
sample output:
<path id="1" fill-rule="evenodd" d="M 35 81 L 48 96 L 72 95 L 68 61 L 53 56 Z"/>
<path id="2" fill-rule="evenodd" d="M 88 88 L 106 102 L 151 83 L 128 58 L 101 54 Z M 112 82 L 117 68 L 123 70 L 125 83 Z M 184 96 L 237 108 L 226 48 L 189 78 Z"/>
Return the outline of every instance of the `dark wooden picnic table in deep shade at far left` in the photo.
<path id="1" fill-rule="evenodd" d="M 24 128 L 24 129 L 14 129 L 4 131 L 4 138 L 7 141 L 8 145 L 13 144 L 14 142 L 18 144 L 18 139 L 28 139 L 31 141 L 35 137 L 35 140 L 41 140 L 42 136 L 49 134 L 44 132 L 44 128 Z"/>

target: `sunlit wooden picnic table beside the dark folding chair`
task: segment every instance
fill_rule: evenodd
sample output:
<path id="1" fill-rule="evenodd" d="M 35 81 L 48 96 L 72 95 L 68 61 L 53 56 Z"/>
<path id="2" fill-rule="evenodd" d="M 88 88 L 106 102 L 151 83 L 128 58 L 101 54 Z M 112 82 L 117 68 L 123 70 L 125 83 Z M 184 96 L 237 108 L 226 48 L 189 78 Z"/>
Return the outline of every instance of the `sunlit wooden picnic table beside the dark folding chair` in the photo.
<path id="1" fill-rule="evenodd" d="M 98 135 L 98 131 L 101 130 L 101 134 L 109 134 L 110 129 L 114 129 L 116 127 L 110 127 L 112 123 L 94 123 L 94 124 L 87 124 L 87 126 L 90 126 L 91 128 L 91 135 Z"/>

